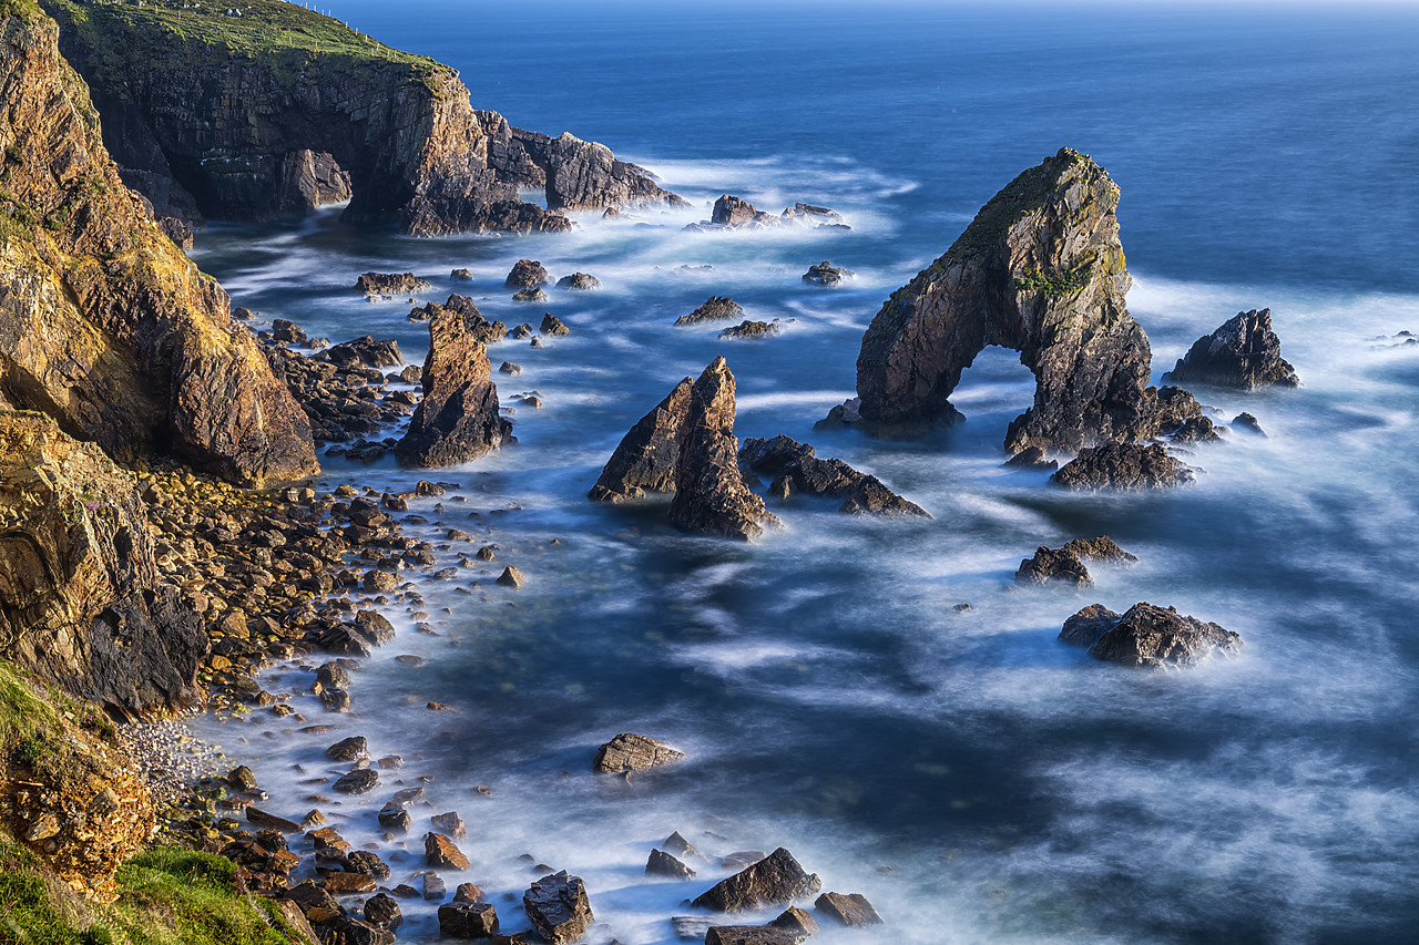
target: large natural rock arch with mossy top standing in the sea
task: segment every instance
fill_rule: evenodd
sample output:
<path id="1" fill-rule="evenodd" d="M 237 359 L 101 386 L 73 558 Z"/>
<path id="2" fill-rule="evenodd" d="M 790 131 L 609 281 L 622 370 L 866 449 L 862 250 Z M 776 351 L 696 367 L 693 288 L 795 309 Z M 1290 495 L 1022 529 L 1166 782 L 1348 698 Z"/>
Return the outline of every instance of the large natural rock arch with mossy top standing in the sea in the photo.
<path id="1" fill-rule="evenodd" d="M 1117 206 L 1108 175 L 1069 149 L 998 193 L 863 335 L 860 424 L 911 436 L 951 423 L 961 372 L 999 345 L 1020 352 L 1037 385 L 1006 434 L 1010 453 L 1151 433 L 1148 338 L 1124 304 Z"/>

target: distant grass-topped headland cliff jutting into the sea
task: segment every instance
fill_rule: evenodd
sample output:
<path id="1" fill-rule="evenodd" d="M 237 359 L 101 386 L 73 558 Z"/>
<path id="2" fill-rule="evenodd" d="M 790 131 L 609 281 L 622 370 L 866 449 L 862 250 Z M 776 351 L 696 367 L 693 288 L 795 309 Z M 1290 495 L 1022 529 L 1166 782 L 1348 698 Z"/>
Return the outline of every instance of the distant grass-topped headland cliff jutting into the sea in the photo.
<path id="1" fill-rule="evenodd" d="M 348 220 L 414 236 L 555 233 L 570 227 L 561 209 L 678 200 L 600 145 L 538 145 L 546 136 L 474 111 L 447 65 L 282 0 L 240 16 L 166 0 L 43 6 L 125 180 L 179 236 L 203 214 L 264 220 L 341 199 Z M 551 210 L 518 196 L 543 186 Z"/>

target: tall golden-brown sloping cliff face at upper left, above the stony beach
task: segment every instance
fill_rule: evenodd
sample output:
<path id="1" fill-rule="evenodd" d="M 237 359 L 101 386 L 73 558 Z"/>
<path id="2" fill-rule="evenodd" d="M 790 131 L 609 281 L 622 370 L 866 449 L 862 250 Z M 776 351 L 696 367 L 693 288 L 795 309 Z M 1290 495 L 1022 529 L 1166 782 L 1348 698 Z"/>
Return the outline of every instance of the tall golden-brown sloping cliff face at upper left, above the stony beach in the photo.
<path id="1" fill-rule="evenodd" d="M 305 414 L 123 186 L 34 13 L 0 17 L 0 400 L 121 463 L 173 453 L 243 484 L 314 472 Z"/>

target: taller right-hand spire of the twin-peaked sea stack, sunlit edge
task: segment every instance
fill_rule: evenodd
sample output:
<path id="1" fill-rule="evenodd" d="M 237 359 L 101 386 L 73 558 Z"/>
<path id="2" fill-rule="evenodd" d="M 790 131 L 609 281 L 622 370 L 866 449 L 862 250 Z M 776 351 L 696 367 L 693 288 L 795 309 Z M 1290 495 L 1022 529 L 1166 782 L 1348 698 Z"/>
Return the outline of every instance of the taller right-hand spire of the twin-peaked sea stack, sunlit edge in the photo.
<path id="1" fill-rule="evenodd" d="M 752 539 L 779 519 L 763 508 L 763 499 L 749 491 L 739 472 L 734 390 L 734 375 L 724 358 L 717 358 L 691 386 L 670 522 L 687 532 Z"/>

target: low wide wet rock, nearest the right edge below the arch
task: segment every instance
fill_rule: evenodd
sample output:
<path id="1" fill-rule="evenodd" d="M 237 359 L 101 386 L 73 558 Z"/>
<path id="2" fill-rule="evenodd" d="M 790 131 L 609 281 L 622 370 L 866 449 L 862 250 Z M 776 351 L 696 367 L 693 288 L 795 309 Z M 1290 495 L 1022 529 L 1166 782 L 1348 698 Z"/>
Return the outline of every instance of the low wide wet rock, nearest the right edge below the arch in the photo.
<path id="1" fill-rule="evenodd" d="M 1100 660 L 1152 668 L 1193 665 L 1213 651 L 1242 648 L 1239 634 L 1151 603 L 1137 603 L 1122 616 L 1103 604 L 1084 607 L 1064 621 L 1059 639 L 1088 647 Z"/>

